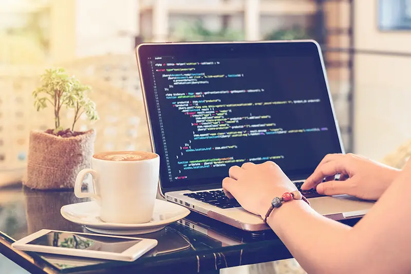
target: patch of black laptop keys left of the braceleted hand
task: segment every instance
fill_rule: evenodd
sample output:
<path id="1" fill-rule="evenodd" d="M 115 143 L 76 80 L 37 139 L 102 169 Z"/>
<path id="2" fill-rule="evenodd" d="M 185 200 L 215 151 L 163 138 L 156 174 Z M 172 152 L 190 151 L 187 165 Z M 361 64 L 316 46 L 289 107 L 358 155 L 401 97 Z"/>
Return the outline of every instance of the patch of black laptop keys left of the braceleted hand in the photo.
<path id="1" fill-rule="evenodd" d="M 196 193 L 185 193 L 184 196 L 200 200 L 201 202 L 219 207 L 233 208 L 241 207 L 236 199 L 230 199 L 222 190 L 202 191 Z"/>

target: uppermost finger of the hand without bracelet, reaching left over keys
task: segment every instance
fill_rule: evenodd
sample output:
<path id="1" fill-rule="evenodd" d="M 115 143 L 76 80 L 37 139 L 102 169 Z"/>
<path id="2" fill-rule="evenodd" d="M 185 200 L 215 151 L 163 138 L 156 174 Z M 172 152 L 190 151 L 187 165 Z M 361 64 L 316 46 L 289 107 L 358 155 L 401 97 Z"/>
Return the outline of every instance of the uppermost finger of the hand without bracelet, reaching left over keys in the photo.
<path id="1" fill-rule="evenodd" d="M 338 173 L 347 173 L 342 160 L 330 161 L 324 163 L 321 167 L 315 169 L 314 173 L 301 186 L 302 190 L 309 190 L 320 184 L 327 176 L 335 176 Z"/>

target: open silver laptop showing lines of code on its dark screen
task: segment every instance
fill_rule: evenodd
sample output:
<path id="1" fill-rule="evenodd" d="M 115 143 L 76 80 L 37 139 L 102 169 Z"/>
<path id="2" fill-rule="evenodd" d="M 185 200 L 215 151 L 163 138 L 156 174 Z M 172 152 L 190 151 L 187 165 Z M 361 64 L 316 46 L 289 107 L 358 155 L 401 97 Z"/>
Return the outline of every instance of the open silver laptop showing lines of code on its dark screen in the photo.
<path id="1" fill-rule="evenodd" d="M 278 55 L 271 57 L 270 54 L 272 52 L 274 52 L 273 54 Z M 258 54 L 266 54 L 267 60 L 269 61 L 266 61 L 264 55 Z M 305 55 L 302 55 L 300 57 L 300 54 Z M 223 148 L 224 150 L 228 151 L 229 148 L 235 149 L 237 147 L 238 149 L 238 147 L 242 146 L 245 148 L 243 149 L 245 151 L 244 154 L 250 154 L 250 151 L 248 151 L 249 147 L 256 145 L 257 147 L 255 148 L 255 151 L 259 150 L 261 152 L 261 148 L 257 145 L 257 143 L 259 143 L 259 139 L 257 139 L 257 142 L 255 141 L 255 139 L 250 139 L 250 141 L 247 142 L 247 138 L 263 138 L 256 136 L 260 134 L 264 135 L 265 141 L 261 139 L 261 143 L 266 145 L 267 148 L 269 148 L 271 144 L 280 145 L 280 147 L 278 148 L 285 149 L 285 157 L 284 155 L 275 155 L 275 157 L 264 157 L 266 155 L 253 155 L 255 157 L 249 157 L 248 155 L 245 155 L 244 158 L 247 158 L 246 160 L 256 163 L 260 163 L 266 160 L 273 160 L 277 162 L 278 165 L 283 168 L 283 170 L 284 167 L 287 166 L 288 170 L 291 171 L 285 172 L 295 183 L 304 181 L 306 177 L 314 170 L 316 164 L 326 154 L 344 153 L 340 137 L 340 130 L 338 122 L 335 119 L 334 109 L 329 92 L 321 49 L 319 44 L 317 44 L 315 41 L 306 40 L 141 44 L 136 49 L 136 55 L 143 90 L 147 123 L 150 131 L 152 150 L 159 154 L 160 159 L 162 160 L 162 164 L 160 165 L 159 192 L 162 197 L 172 203 L 180 204 L 191 209 L 192 211 L 198 212 L 222 223 L 226 223 L 243 230 L 266 230 L 269 228 L 264 224 L 263 220 L 261 220 L 259 216 L 251 214 L 241 207 L 219 208 L 215 205 L 204 203 L 201 202 L 201 200 L 188 196 L 188 194 L 193 193 L 221 190 L 221 178 L 228 175 L 229 167 L 233 165 L 240 166 L 241 163 L 244 162 L 240 161 L 242 157 L 241 150 L 238 150 L 238 152 L 236 151 L 237 155 L 239 155 L 238 157 L 240 158 L 239 160 L 236 160 L 236 157 L 218 158 L 221 155 L 219 154 L 220 151 L 218 153 L 217 151 L 214 152 L 214 148 L 218 148 L 218 150 Z M 263 56 L 264 58 L 261 56 Z M 270 58 L 272 58 L 273 61 L 270 61 Z M 270 67 L 270 62 L 272 62 L 272 64 L 275 63 L 272 68 Z M 288 65 L 288 63 L 290 65 Z M 225 69 L 230 70 L 227 71 L 227 73 L 221 70 L 221 66 L 225 64 L 227 64 L 227 68 Z M 243 65 L 244 70 L 248 71 L 245 74 L 242 74 L 241 71 L 239 71 Z M 249 70 L 249 67 L 252 67 L 253 70 Z M 253 71 L 258 70 L 261 67 L 264 68 L 261 70 L 261 73 L 254 75 Z M 213 72 L 213 68 L 215 68 L 215 71 L 217 72 Z M 270 69 L 272 69 L 272 71 Z M 270 70 L 269 74 L 267 74 L 267 77 L 265 76 L 264 78 L 261 78 L 261 81 L 264 82 L 266 79 L 268 79 L 267 86 L 269 88 L 258 89 L 258 87 L 248 86 L 249 82 L 252 82 L 254 78 L 257 79 L 258 77 L 262 77 L 261 75 L 267 73 L 267 70 Z M 275 76 L 276 71 L 278 71 L 278 74 L 284 73 L 284 75 Z M 286 72 L 284 71 L 288 71 L 289 73 L 285 74 Z M 312 74 L 313 77 L 310 77 L 310 74 Z M 251 76 L 249 77 L 248 75 Z M 254 75 L 254 78 L 252 78 L 252 75 Z M 292 75 L 292 77 L 290 75 Z M 283 78 L 288 77 L 291 77 L 292 81 L 284 83 L 281 82 Z M 270 86 L 270 78 L 274 79 L 273 82 L 278 81 L 278 83 L 281 84 L 276 85 L 274 83 L 272 84 L 272 86 Z M 312 80 L 312 78 L 318 79 L 315 80 L 315 82 L 314 80 Z M 248 79 L 251 80 L 248 81 Z M 268 89 L 272 90 L 270 91 L 271 93 L 274 93 L 277 89 L 285 90 L 282 93 L 283 96 L 292 94 L 293 88 L 297 87 L 298 82 L 308 83 L 306 84 L 307 89 L 304 91 L 304 98 L 301 98 L 301 101 L 287 101 L 287 99 L 284 100 L 284 98 L 279 98 L 278 101 L 275 102 L 267 100 L 252 102 L 253 98 L 257 98 L 253 95 L 253 93 L 257 94 L 256 96 L 263 96 L 258 97 L 259 99 L 264 99 L 263 92 L 267 92 Z M 317 82 L 319 83 L 318 88 L 316 88 L 315 86 L 317 85 L 315 84 Z M 241 89 L 241 87 L 233 87 L 233 89 L 228 90 L 226 84 L 233 84 L 235 86 L 236 83 L 245 83 L 244 85 L 246 85 L 246 87 L 244 89 Z M 313 86 L 309 86 L 311 83 Z M 318 99 L 316 99 L 316 96 L 313 96 L 312 98 L 311 93 L 319 93 L 320 89 L 322 96 L 321 98 L 323 99 L 318 101 Z M 287 90 L 289 90 L 289 92 Z M 297 90 L 296 92 L 299 91 Z M 239 95 L 236 95 L 237 93 Z M 220 95 L 221 99 L 218 99 L 218 96 Z M 229 95 L 231 97 L 228 97 Z M 270 107 L 272 107 L 270 109 L 274 109 L 275 107 L 282 107 L 279 106 L 282 104 L 287 105 L 287 103 L 285 102 L 288 102 L 288 104 L 292 103 L 292 107 L 294 107 L 294 105 L 296 106 L 297 103 L 315 104 L 316 102 L 319 102 L 319 105 L 315 107 L 317 107 L 318 112 L 324 113 L 324 116 L 328 117 L 326 118 L 328 119 L 328 127 L 322 127 L 321 129 L 320 127 L 314 127 L 310 129 L 298 129 L 299 131 L 297 129 L 287 131 L 282 128 L 274 128 L 276 126 L 273 125 L 274 123 L 257 123 L 252 125 L 247 124 L 248 127 L 255 126 L 255 128 L 258 128 L 260 126 L 260 128 L 263 128 L 263 130 L 260 130 L 260 132 L 258 132 L 258 129 L 242 131 L 245 134 L 246 139 L 238 137 L 239 135 L 236 133 L 238 133 L 239 131 L 237 129 L 241 126 L 244 128 L 245 125 L 232 126 L 229 122 L 238 124 L 239 122 L 235 121 L 236 119 L 238 120 L 240 118 L 229 117 L 230 111 L 227 111 L 227 109 L 232 107 L 231 113 L 234 113 L 241 107 L 247 107 L 247 104 L 244 104 L 244 102 L 240 102 L 240 104 L 238 104 L 238 102 L 236 101 L 237 99 L 241 98 L 241 96 L 249 96 L 244 98 L 250 99 L 252 106 L 256 107 L 256 112 L 259 109 L 258 106 L 261 106 L 263 104 L 270 105 Z M 210 98 L 210 100 L 207 102 L 199 101 L 207 100 L 208 98 Z M 229 102 L 229 104 L 227 104 L 227 102 L 231 100 L 227 98 L 232 98 L 233 102 Z M 205 108 L 203 107 L 203 105 L 201 105 L 204 102 L 209 104 L 206 105 Z M 161 104 L 163 104 L 163 108 Z M 178 109 L 178 111 L 175 111 L 175 109 Z M 209 112 L 201 112 L 203 109 L 208 109 Z M 221 111 L 215 111 L 215 109 L 221 109 Z M 253 111 L 252 108 L 250 108 L 250 114 L 247 113 L 246 119 L 264 119 L 267 117 L 271 119 L 271 116 L 273 116 L 261 116 L 260 114 L 255 114 L 253 116 L 251 111 Z M 294 121 L 298 121 L 298 119 L 303 116 L 310 116 L 305 112 L 304 108 L 302 108 L 302 111 L 299 115 L 298 111 L 294 113 L 292 110 L 288 111 L 286 108 L 284 108 L 284 111 L 286 111 L 284 115 L 294 117 Z M 177 115 L 177 113 L 179 114 Z M 224 118 L 222 118 L 222 120 L 220 120 L 221 124 L 227 123 L 222 126 L 222 131 L 221 128 L 217 128 L 215 126 L 216 124 L 213 123 L 214 120 L 210 120 L 211 118 L 208 118 L 210 116 L 206 116 L 212 114 L 222 116 L 226 115 Z M 311 116 L 315 115 L 315 113 L 311 113 Z M 320 118 L 320 120 L 321 119 L 323 118 Z M 202 122 L 198 123 L 198 121 Z M 307 121 L 310 126 L 311 124 L 315 124 L 315 119 L 313 122 L 309 120 Z M 187 125 L 187 123 L 191 124 Z M 190 129 L 193 129 L 192 133 L 186 133 L 188 131 L 186 131 L 185 127 L 187 126 L 191 126 Z M 224 130 L 227 129 L 228 131 L 224 132 Z M 287 139 L 282 139 L 285 140 L 283 141 L 284 144 L 278 141 L 278 136 L 280 136 L 280 133 L 278 133 L 278 131 L 280 131 L 280 133 L 285 133 L 285 135 L 283 136 L 290 136 L 287 137 Z M 272 134 L 273 132 L 275 132 L 275 134 Z M 220 136 L 218 135 L 218 133 L 220 133 L 220 135 L 229 135 L 229 137 L 215 138 L 215 136 Z M 329 135 L 326 135 L 328 133 L 331 137 L 329 137 Z M 295 151 L 292 153 L 290 152 L 291 156 L 288 157 L 288 151 L 293 151 L 295 147 L 301 144 L 301 141 L 295 141 L 294 143 L 290 141 L 290 143 L 287 143 L 289 142 L 288 140 L 292 138 L 303 138 L 292 137 L 296 136 L 297 134 L 301 134 L 302 136 L 307 135 L 307 139 L 311 138 L 310 143 L 308 143 L 307 145 L 308 149 L 301 149 L 301 154 Z M 310 135 L 311 137 L 309 137 L 309 134 L 324 135 L 318 135 L 318 140 L 315 141 L 316 137 L 312 137 L 313 135 Z M 225 140 L 225 143 L 220 144 L 220 139 Z M 204 140 L 206 140 L 207 142 Z M 201 147 L 202 143 L 207 143 L 207 145 L 209 145 L 212 140 L 217 140 L 215 141 L 215 147 Z M 227 144 L 227 140 L 232 140 L 232 145 L 226 146 L 226 148 L 224 147 L 224 145 Z M 301 140 L 303 142 L 306 141 L 304 138 Z M 332 143 L 332 145 L 327 145 L 327 143 Z M 192 147 L 194 147 L 194 144 L 196 144 L 198 148 L 192 149 Z M 288 149 L 287 146 L 289 147 Z M 329 150 L 327 149 L 328 147 L 330 147 Z M 196 160 L 196 157 L 192 156 L 193 154 L 191 153 L 196 153 L 197 150 L 199 153 L 198 159 Z M 315 154 L 316 151 L 319 150 L 321 150 L 322 152 L 319 153 L 319 155 L 315 155 L 316 158 L 313 156 L 315 159 L 307 160 L 307 165 L 309 165 L 309 168 L 305 167 L 305 160 L 302 160 L 301 163 L 295 163 L 295 167 L 293 167 L 293 160 L 287 162 L 288 158 L 295 159 L 295 161 L 297 161 L 300 159 L 299 157 L 304 159 L 305 157 L 307 157 L 307 155 Z M 209 162 L 207 162 L 201 159 L 201 155 L 205 155 L 205 153 L 208 153 L 207 157 L 211 157 L 209 159 L 212 159 L 214 161 L 210 160 Z M 215 153 L 215 157 L 213 157 L 213 153 Z M 189 154 L 190 156 L 186 156 Z M 185 160 L 184 157 L 191 158 L 190 160 Z M 304 172 L 302 172 L 302 170 L 304 170 Z M 213 178 L 214 171 L 216 171 L 216 174 L 218 173 L 215 178 Z M 200 177 L 200 175 L 202 177 Z M 191 177 L 196 176 L 198 178 L 190 179 Z M 347 195 L 339 195 L 333 197 L 314 197 L 309 198 L 309 200 L 313 209 L 324 216 L 332 218 L 333 220 L 343 220 L 347 218 L 362 216 L 373 205 L 372 202 L 366 202 Z"/>

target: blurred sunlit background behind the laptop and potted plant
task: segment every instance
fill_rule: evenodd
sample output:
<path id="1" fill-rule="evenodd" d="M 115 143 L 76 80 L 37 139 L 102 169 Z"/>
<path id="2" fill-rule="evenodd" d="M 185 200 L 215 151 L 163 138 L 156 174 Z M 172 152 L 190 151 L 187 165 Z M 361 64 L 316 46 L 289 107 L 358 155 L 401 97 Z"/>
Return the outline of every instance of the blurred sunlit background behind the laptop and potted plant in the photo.
<path id="1" fill-rule="evenodd" d="M 45 68 L 94 88 L 101 119 L 77 130 L 97 130 L 97 152 L 150 150 L 139 43 L 308 38 L 323 49 L 346 151 L 401 167 L 411 154 L 411 0 L 0 0 L 0 186 L 21 178 L 30 130 L 53 125 L 31 97 Z"/>

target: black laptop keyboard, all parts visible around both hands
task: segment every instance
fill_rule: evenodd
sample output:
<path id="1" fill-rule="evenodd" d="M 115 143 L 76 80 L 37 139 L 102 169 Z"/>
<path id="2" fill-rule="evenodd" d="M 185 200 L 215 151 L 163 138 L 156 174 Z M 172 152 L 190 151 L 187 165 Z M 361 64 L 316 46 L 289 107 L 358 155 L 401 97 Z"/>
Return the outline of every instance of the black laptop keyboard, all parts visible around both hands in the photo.
<path id="1" fill-rule="evenodd" d="M 314 197 L 321 197 L 324 195 L 318 194 L 314 189 L 311 190 L 301 190 L 301 186 L 303 182 L 295 182 L 295 186 L 298 190 L 303 193 L 306 198 L 314 198 Z M 211 191 L 202 191 L 202 192 L 193 192 L 193 193 L 185 193 L 184 196 L 199 200 L 203 203 L 207 203 L 219 208 L 234 208 L 234 207 L 241 207 L 238 204 L 236 199 L 230 199 L 227 197 L 226 193 L 222 190 L 211 190 Z"/>

